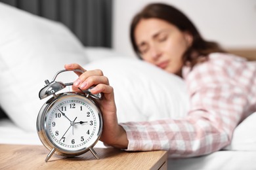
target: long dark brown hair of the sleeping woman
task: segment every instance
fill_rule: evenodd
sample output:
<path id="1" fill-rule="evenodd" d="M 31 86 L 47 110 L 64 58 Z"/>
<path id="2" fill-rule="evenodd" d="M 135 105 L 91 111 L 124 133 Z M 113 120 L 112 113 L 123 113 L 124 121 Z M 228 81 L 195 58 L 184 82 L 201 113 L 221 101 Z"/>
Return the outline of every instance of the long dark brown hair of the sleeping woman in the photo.
<path id="1" fill-rule="evenodd" d="M 207 55 L 212 52 L 224 52 L 224 50 L 216 42 L 205 41 L 195 25 L 184 15 L 180 10 L 175 9 L 170 5 L 165 5 L 162 3 L 152 3 L 144 7 L 131 22 L 130 27 L 130 38 L 133 45 L 133 50 L 135 50 L 137 56 L 141 59 L 139 49 L 135 42 L 135 28 L 139 24 L 140 20 L 148 18 L 158 18 L 165 20 L 170 24 L 175 25 L 181 31 L 187 31 L 193 37 L 192 45 L 184 52 L 183 62 L 190 63 L 194 66 L 200 61 L 207 59 Z M 203 56 L 203 58 L 200 58 Z"/>

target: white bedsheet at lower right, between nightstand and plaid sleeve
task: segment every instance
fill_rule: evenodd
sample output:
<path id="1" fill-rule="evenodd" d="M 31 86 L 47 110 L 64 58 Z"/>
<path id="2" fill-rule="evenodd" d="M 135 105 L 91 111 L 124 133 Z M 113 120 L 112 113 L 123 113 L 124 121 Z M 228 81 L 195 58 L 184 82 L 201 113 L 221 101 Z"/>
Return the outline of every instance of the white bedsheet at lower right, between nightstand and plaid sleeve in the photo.
<path id="1" fill-rule="evenodd" d="M 200 156 L 179 160 L 168 160 L 168 169 L 175 170 L 255 170 L 255 151 L 221 150 Z"/>

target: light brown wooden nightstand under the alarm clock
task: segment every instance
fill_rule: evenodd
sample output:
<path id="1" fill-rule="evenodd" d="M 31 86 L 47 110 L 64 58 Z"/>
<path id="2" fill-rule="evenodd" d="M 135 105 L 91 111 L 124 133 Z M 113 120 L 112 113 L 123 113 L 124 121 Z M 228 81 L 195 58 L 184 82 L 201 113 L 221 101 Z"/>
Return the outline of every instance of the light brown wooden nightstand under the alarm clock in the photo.
<path id="1" fill-rule="evenodd" d="M 87 152 L 75 158 L 53 155 L 44 146 L 0 144 L 0 169 L 167 169 L 167 152 L 125 152 L 115 148 L 95 148 L 100 160 Z"/>

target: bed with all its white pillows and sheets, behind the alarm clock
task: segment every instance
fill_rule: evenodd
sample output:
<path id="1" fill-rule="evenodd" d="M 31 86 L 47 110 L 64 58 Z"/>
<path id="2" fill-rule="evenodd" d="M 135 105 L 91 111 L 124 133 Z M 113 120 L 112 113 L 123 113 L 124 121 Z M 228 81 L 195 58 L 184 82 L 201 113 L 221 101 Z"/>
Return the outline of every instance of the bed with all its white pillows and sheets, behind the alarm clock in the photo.
<path id="1" fill-rule="evenodd" d="M 8 116 L 0 119 L 0 144 L 41 145 L 35 122 L 45 100 L 38 93 L 65 63 L 102 69 L 115 90 L 119 122 L 186 115 L 189 103 L 181 78 L 110 48 L 84 47 L 64 25 L 1 3 L 0 21 L 0 106 Z M 75 77 L 60 78 L 70 82 Z M 169 159 L 168 169 L 256 169 L 255 122 L 253 113 L 236 127 L 232 143 L 223 150 Z M 99 142 L 96 147 L 105 146 Z"/>

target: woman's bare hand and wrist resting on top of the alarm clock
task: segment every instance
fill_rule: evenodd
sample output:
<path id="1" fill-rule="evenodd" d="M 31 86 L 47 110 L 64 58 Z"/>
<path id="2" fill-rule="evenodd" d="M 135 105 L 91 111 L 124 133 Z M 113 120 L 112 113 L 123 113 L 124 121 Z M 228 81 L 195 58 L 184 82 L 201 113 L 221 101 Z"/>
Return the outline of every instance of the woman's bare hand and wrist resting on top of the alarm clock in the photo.
<path id="1" fill-rule="evenodd" d="M 81 92 L 81 90 L 87 90 L 91 86 L 95 86 L 91 89 L 91 93 L 104 94 L 102 99 L 97 101 L 103 117 L 103 131 L 100 141 L 116 148 L 127 148 L 127 135 L 123 127 L 119 126 L 117 122 L 114 90 L 110 86 L 108 78 L 100 70 L 86 71 L 76 63 L 65 65 L 65 69 L 81 69 L 84 71 L 84 73 L 75 72 L 79 76 L 73 85 L 75 92 Z"/>

